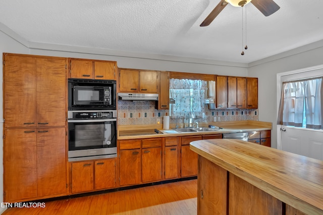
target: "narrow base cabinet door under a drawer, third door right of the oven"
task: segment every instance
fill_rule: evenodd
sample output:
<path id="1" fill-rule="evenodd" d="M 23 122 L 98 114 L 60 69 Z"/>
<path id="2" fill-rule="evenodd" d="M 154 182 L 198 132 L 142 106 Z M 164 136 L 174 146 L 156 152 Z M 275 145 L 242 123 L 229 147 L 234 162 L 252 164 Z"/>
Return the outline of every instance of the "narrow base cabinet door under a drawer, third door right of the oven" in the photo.
<path id="1" fill-rule="evenodd" d="M 178 178 L 177 146 L 165 147 L 165 179 Z"/>

